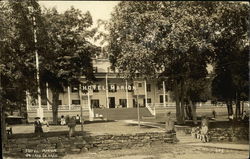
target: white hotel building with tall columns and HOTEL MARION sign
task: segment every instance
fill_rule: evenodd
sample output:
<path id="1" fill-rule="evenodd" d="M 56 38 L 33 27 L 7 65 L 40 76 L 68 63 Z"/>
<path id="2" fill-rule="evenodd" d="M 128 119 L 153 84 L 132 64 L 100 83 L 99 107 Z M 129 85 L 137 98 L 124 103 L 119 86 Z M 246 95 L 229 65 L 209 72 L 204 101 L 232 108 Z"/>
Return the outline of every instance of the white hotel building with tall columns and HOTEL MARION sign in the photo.
<path id="1" fill-rule="evenodd" d="M 118 76 L 118 73 L 110 71 L 110 65 L 108 59 L 93 59 L 97 81 L 91 86 L 82 86 L 83 91 L 79 91 L 79 86 L 64 88 L 64 92 L 59 95 L 59 117 L 61 115 L 80 115 L 82 107 L 85 119 L 93 118 L 98 116 L 95 110 L 99 108 L 134 108 L 137 107 L 137 103 L 155 115 L 155 106 L 174 105 L 170 93 L 163 91 L 164 83 L 159 85 L 157 80 L 146 81 L 140 78 L 127 81 Z M 81 80 L 84 81 L 84 77 Z M 52 100 L 51 90 L 48 87 L 42 87 L 41 94 L 44 117 L 51 120 L 52 107 L 45 98 Z M 36 100 L 27 96 L 29 121 L 34 120 L 37 108 Z"/>

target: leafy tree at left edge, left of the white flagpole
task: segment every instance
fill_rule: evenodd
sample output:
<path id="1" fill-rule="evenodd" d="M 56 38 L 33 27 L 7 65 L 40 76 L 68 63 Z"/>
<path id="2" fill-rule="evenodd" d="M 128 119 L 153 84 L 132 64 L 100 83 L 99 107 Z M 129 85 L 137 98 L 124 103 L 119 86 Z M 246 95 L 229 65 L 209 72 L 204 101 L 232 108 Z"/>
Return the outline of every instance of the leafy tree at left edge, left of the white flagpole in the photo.
<path id="1" fill-rule="evenodd" d="M 32 23 L 27 17 L 29 5 L 38 6 L 35 1 L 0 2 L 0 98 L 4 139 L 5 113 L 23 104 L 25 90 L 34 92 L 33 86 L 36 86 Z"/>

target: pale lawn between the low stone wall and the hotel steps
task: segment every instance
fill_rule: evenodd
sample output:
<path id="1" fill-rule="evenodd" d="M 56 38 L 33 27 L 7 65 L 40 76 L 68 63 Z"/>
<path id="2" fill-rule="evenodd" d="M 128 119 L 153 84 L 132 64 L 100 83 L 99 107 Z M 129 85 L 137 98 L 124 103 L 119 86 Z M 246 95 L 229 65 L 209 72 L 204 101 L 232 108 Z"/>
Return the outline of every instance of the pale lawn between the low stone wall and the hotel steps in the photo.
<path id="1" fill-rule="evenodd" d="M 26 125 L 13 125 L 13 135 L 12 137 L 29 137 L 34 136 L 34 126 L 32 124 Z M 76 133 L 81 133 L 81 125 L 76 126 Z M 158 128 L 152 128 L 147 126 L 138 127 L 137 124 L 130 120 L 123 121 L 98 121 L 98 122 L 88 122 L 84 124 L 83 130 L 85 133 L 91 135 L 103 135 L 103 134 L 136 134 L 145 132 L 161 132 L 162 130 Z M 45 136 L 57 136 L 57 135 L 67 135 L 69 128 L 67 125 L 50 125 L 50 131 L 45 133 Z"/>

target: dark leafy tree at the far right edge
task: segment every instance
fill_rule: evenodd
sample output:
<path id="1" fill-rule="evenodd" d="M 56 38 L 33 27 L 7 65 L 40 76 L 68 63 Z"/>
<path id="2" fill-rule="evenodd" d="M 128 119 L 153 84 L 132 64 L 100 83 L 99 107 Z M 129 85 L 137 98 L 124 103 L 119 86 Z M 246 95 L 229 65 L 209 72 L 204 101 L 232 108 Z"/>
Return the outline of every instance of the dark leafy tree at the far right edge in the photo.
<path id="1" fill-rule="evenodd" d="M 240 101 L 247 100 L 249 92 L 248 52 L 249 5 L 242 2 L 220 2 L 214 13 L 213 45 L 215 46 L 215 78 L 212 92 L 225 101 L 228 115 L 240 116 Z"/>

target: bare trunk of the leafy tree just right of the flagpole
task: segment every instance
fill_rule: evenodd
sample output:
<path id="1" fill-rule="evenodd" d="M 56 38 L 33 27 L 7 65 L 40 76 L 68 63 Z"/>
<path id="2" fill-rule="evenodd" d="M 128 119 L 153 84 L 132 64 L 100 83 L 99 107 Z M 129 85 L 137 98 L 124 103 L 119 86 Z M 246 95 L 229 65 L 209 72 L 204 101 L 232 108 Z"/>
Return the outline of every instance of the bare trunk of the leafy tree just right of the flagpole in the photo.
<path id="1" fill-rule="evenodd" d="M 52 115 L 53 115 L 53 124 L 58 124 L 58 101 L 59 101 L 59 92 L 57 90 L 52 90 Z"/>

